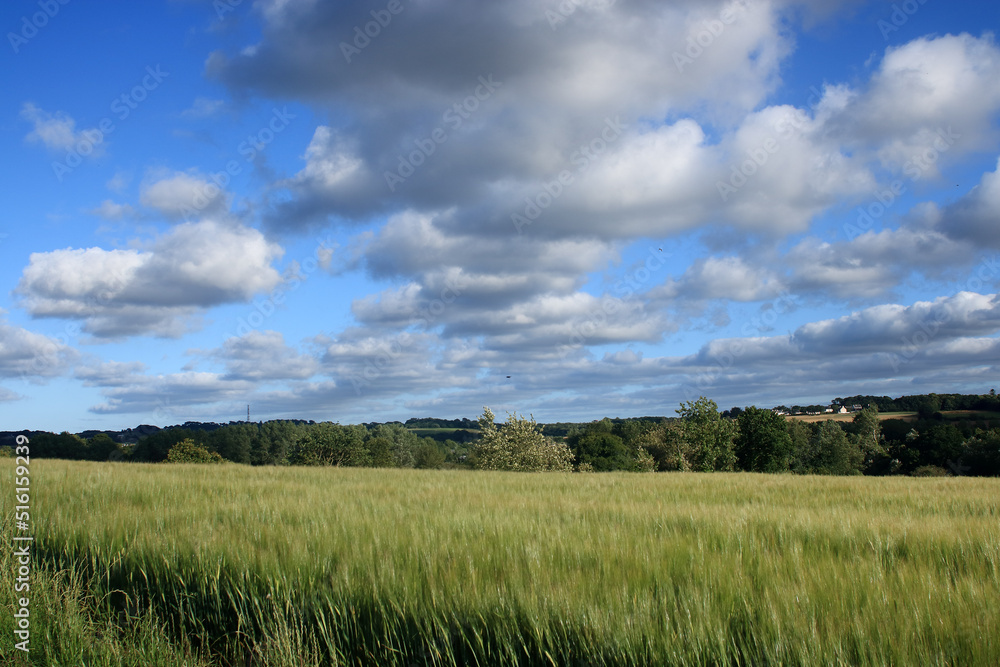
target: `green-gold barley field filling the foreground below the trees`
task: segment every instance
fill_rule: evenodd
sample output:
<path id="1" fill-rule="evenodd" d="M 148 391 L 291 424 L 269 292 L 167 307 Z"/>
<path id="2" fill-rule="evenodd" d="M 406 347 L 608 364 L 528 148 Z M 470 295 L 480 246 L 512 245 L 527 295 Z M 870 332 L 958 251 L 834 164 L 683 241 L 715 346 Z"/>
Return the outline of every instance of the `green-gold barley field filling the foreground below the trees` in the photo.
<path id="1" fill-rule="evenodd" d="M 1000 664 L 997 479 L 38 460 L 32 483 L 37 577 L 165 656 L 88 665 Z"/>

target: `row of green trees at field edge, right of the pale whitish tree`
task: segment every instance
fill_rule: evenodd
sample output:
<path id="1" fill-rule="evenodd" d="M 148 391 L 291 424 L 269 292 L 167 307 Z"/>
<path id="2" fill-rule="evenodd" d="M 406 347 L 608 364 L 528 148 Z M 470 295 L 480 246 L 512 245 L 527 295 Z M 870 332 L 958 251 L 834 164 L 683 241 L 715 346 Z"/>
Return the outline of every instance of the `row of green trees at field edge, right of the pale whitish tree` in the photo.
<path id="1" fill-rule="evenodd" d="M 677 413 L 659 422 L 591 422 L 565 444 L 582 471 L 1000 475 L 1000 420 L 948 421 L 936 411 L 882 421 L 870 405 L 850 422 L 807 423 L 755 406 L 720 414 L 705 397 Z"/>

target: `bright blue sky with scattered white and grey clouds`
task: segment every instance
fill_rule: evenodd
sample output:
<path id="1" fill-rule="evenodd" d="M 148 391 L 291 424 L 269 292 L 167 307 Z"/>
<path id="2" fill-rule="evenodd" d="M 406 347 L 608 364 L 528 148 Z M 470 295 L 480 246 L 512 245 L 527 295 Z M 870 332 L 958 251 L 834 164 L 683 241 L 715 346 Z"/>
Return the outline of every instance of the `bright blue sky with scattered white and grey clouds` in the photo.
<path id="1" fill-rule="evenodd" d="M 986 392 L 998 18 L 5 3 L 0 428 Z"/>

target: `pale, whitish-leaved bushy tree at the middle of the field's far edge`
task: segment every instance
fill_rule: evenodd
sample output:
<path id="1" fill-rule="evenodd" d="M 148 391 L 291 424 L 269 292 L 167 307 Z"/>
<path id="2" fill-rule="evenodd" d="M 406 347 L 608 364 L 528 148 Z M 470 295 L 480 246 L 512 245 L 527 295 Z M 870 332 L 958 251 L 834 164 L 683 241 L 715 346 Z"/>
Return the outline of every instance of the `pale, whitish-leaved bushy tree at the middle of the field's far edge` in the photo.
<path id="1" fill-rule="evenodd" d="M 534 416 L 507 415 L 507 423 L 497 427 L 493 412 L 483 408 L 479 418 L 482 439 L 475 446 L 477 466 L 483 470 L 537 472 L 573 469 L 573 452 L 564 443 L 542 435 Z"/>

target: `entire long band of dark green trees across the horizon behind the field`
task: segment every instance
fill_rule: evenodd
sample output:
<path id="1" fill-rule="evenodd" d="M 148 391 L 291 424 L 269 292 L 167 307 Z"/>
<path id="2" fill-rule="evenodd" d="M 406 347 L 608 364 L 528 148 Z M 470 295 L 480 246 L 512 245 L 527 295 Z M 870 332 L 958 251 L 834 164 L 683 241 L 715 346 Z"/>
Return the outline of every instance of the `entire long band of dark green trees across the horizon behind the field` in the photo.
<path id="1" fill-rule="evenodd" d="M 231 461 L 250 465 L 321 465 L 490 470 L 751 471 L 830 475 L 1000 475 L 1000 419 L 949 419 L 949 406 L 1000 407 L 996 396 L 936 395 L 890 399 L 892 407 L 919 405 L 916 420 L 879 419 L 867 402 L 850 422 L 806 423 L 750 406 L 720 413 L 701 397 L 681 403 L 675 418 L 602 419 L 545 427 L 509 415 L 503 424 L 485 408 L 471 420 L 410 420 L 407 424 L 331 422 L 236 423 L 215 430 L 170 428 L 135 445 L 105 433 L 32 433 L 42 458 L 156 463 Z M 879 399 L 881 400 L 881 399 Z M 883 405 L 887 405 L 884 401 Z M 939 408 L 931 410 L 931 408 Z M 989 417 L 990 415 L 986 415 Z M 472 442 L 419 437 L 411 428 L 462 428 Z M 411 423 L 412 422 L 412 423 Z M 558 435 L 553 435 L 557 433 Z M 461 440 L 461 439 L 460 439 Z M 4 451 L 7 448 L 0 448 Z M 9 452 L 5 452 L 8 453 Z"/>

